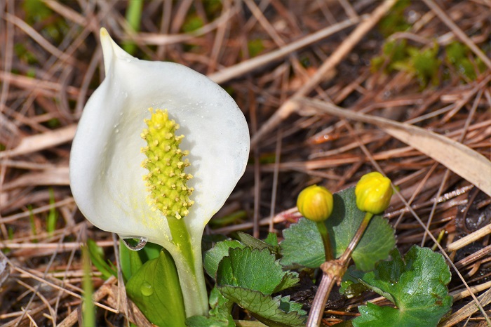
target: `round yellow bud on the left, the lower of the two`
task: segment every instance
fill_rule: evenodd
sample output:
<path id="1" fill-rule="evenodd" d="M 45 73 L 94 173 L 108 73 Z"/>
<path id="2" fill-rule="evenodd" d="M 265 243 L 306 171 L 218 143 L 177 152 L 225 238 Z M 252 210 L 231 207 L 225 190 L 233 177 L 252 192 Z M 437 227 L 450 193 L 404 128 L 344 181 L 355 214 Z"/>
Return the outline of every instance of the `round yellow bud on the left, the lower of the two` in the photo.
<path id="1" fill-rule="evenodd" d="M 298 194 L 298 211 L 314 222 L 328 219 L 332 213 L 332 206 L 332 194 L 325 187 L 311 185 Z"/>

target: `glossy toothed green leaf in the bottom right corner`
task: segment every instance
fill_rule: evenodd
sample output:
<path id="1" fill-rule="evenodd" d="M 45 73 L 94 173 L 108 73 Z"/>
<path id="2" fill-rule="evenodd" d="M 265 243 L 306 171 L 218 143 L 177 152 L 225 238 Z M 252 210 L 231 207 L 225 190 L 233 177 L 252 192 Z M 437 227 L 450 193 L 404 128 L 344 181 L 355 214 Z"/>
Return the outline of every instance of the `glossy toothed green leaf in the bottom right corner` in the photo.
<path id="1" fill-rule="evenodd" d="M 450 269 L 442 255 L 429 248 L 412 246 L 404 258 L 397 249 L 393 260 L 379 262 L 375 271 L 349 270 L 373 291 L 394 302 L 397 308 L 378 307 L 368 302 L 358 307 L 361 316 L 354 326 L 436 326 L 450 310 L 452 297 L 448 295 Z"/>

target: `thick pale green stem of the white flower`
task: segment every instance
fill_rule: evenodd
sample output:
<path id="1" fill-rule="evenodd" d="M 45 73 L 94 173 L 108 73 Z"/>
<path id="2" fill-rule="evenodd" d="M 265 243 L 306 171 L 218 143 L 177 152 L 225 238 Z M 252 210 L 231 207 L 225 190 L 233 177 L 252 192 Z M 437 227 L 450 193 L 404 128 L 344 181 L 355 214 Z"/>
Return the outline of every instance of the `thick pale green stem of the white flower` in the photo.
<path id="1" fill-rule="evenodd" d="M 201 239 L 191 240 L 184 219 L 168 218 L 175 244 L 175 248 L 168 251 L 173 256 L 179 275 L 186 316 L 207 316 L 208 293 L 203 274 Z"/>

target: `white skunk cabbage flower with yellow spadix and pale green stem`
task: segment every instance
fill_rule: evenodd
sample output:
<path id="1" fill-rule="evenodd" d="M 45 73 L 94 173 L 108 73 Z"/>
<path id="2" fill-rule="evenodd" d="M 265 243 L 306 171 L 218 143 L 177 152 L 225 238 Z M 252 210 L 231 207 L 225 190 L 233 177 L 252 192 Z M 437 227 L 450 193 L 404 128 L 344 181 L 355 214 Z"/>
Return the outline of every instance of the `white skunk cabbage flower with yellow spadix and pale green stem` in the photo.
<path id="1" fill-rule="evenodd" d="M 133 58 L 104 28 L 100 40 L 106 78 L 83 109 L 73 141 L 74 199 L 100 229 L 166 248 L 186 315 L 207 314 L 201 237 L 243 175 L 247 123 L 206 76 Z"/>

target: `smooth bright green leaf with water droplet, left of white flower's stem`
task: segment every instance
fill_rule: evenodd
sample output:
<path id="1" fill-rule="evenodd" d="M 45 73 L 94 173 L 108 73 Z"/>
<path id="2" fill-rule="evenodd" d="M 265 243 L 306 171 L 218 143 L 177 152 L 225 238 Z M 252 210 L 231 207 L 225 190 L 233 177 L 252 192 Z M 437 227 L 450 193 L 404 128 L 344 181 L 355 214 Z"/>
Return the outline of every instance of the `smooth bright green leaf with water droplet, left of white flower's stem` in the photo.
<path id="1" fill-rule="evenodd" d="M 131 276 L 126 292 L 150 322 L 157 326 L 186 326 L 184 300 L 170 254 L 163 250 Z"/>

